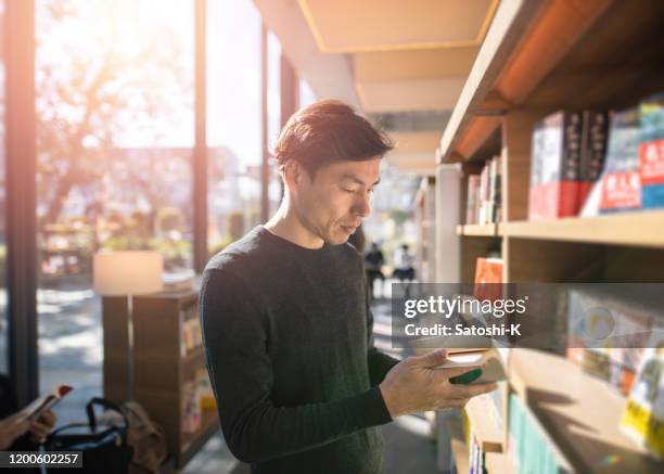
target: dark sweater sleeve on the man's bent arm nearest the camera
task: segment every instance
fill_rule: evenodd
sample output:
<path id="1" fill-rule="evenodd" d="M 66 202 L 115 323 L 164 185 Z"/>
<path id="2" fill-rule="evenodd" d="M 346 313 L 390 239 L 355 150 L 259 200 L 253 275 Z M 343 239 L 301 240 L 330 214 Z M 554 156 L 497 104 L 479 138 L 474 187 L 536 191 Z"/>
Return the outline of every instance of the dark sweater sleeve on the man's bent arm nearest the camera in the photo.
<path id="1" fill-rule="evenodd" d="M 231 452 L 263 462 L 311 449 L 392 419 L 378 387 L 297 407 L 274 406 L 267 320 L 251 289 L 230 271 L 208 269 L 201 289 L 205 358 Z"/>

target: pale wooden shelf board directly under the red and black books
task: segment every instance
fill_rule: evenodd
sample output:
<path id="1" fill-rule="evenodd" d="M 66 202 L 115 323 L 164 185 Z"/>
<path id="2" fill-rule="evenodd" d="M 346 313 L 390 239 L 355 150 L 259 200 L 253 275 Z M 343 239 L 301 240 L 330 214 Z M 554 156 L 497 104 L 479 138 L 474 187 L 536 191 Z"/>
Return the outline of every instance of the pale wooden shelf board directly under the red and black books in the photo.
<path id="1" fill-rule="evenodd" d="M 664 247 L 664 210 L 501 223 L 505 236 Z"/>

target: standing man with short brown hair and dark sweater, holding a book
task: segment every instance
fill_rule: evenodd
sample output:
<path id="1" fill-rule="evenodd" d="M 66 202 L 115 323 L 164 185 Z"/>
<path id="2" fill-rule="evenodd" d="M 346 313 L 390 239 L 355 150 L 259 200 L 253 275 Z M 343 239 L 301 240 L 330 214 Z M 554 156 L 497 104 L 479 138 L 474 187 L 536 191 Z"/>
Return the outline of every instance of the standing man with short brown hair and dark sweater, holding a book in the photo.
<path id="1" fill-rule="evenodd" d="M 215 255 L 201 318 L 221 427 L 254 473 L 379 473 L 379 425 L 461 407 L 493 385 L 452 385 L 445 353 L 401 362 L 373 346 L 360 255 L 346 241 L 369 214 L 390 140 L 347 105 L 297 112 L 274 158 L 277 214 Z"/>

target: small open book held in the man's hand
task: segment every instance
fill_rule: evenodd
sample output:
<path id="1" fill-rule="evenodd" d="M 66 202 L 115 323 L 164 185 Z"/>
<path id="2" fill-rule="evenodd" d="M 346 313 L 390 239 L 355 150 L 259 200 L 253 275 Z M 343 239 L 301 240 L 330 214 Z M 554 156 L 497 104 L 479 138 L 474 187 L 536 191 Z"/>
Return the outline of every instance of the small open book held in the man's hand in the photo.
<path id="1" fill-rule="evenodd" d="M 502 357 L 495 347 L 481 349 L 450 349 L 447 361 L 438 369 L 476 368 L 471 372 L 450 379 L 452 384 L 486 384 L 507 379 Z"/>

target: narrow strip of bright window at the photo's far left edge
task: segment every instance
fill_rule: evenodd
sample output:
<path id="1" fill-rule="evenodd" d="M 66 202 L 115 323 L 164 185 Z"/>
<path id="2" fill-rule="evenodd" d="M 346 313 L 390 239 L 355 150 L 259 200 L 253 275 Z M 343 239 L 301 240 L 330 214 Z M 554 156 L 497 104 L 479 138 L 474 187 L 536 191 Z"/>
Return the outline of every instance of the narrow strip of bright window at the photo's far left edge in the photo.
<path id="1" fill-rule="evenodd" d="M 0 1 L 0 38 L 4 38 L 4 1 Z M 9 372 L 7 313 L 7 184 L 4 158 L 4 49 L 0 48 L 0 373 Z"/>

